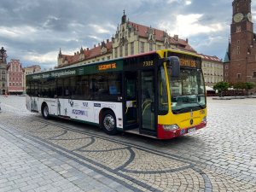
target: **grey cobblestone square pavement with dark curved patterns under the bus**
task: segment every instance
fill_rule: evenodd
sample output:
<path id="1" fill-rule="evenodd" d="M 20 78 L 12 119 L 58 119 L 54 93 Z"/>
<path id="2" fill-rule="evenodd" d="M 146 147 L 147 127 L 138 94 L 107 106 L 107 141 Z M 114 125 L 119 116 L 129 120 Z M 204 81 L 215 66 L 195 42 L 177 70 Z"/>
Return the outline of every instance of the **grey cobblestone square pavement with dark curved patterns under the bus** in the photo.
<path id="1" fill-rule="evenodd" d="M 44 120 L 0 96 L 0 191 L 256 191 L 256 99 L 208 98 L 206 129 L 171 141 Z"/>

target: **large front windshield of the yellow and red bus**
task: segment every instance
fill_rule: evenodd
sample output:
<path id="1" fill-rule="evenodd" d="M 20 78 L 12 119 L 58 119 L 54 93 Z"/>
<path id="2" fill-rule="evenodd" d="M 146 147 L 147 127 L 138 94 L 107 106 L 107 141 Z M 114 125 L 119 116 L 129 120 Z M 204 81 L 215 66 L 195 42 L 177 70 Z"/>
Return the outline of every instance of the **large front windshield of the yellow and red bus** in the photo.
<path id="1" fill-rule="evenodd" d="M 200 69 L 181 69 L 180 76 L 169 76 L 169 81 L 172 113 L 187 113 L 206 108 L 205 85 Z"/>

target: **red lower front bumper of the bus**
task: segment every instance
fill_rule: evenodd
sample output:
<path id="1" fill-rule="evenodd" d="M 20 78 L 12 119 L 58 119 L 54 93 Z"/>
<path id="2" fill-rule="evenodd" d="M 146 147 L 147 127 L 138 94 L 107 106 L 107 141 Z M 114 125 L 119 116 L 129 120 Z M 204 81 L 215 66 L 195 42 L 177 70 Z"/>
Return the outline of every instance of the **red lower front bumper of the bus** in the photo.
<path id="1" fill-rule="evenodd" d="M 163 125 L 158 125 L 158 132 L 157 132 L 157 138 L 159 139 L 172 139 L 174 137 L 181 137 L 183 135 L 186 135 L 190 132 L 200 130 L 201 128 L 204 128 L 207 126 L 207 122 L 202 121 L 201 124 L 195 125 L 188 128 L 183 129 L 177 129 L 172 131 L 166 131 L 164 130 Z"/>

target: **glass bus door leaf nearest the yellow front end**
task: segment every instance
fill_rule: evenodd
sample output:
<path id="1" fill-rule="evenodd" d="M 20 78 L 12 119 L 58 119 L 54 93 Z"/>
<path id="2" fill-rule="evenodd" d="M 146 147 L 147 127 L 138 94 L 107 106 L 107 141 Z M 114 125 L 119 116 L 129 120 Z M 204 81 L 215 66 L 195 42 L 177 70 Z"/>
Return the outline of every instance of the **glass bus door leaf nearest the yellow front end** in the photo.
<path id="1" fill-rule="evenodd" d="M 141 72 L 139 81 L 140 133 L 150 136 L 156 136 L 154 81 L 154 69 Z"/>

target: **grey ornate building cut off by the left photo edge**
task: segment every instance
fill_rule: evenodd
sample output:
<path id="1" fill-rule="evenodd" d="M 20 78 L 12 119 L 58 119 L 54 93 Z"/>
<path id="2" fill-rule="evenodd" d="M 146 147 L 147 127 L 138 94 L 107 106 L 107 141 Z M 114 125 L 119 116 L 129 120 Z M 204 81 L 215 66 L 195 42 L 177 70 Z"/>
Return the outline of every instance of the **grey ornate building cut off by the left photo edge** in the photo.
<path id="1" fill-rule="evenodd" d="M 6 50 L 0 49 L 0 95 L 7 92 L 7 54 Z"/>

